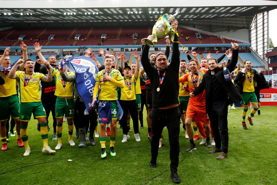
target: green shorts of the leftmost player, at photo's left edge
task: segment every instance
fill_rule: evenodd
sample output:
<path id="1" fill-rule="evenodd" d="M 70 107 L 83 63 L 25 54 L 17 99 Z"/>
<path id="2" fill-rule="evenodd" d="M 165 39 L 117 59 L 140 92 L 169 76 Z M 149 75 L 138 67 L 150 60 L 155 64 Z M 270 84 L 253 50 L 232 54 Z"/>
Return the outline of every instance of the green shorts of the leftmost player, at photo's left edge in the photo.
<path id="1" fill-rule="evenodd" d="M 16 94 L 8 97 L 1 97 L 0 98 L 0 121 L 5 121 L 10 118 L 16 119 L 19 118 L 19 101 Z"/>

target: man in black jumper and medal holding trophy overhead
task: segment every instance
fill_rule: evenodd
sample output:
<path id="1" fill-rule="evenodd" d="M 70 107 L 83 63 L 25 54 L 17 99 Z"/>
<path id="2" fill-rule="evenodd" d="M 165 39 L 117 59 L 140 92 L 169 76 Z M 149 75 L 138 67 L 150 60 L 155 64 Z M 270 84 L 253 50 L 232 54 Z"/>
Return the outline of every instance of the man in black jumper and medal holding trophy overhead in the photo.
<path id="1" fill-rule="evenodd" d="M 172 15 L 170 15 L 172 16 Z M 169 29 L 171 33 L 171 38 L 173 39 L 173 50 L 170 66 L 167 63 L 167 58 L 164 53 L 159 52 L 155 57 L 155 67 L 153 67 L 148 58 L 149 45 L 145 45 L 141 55 L 141 63 L 145 72 L 147 73 L 153 99 L 152 99 L 152 118 L 151 118 L 151 161 L 149 163 L 150 167 L 156 167 L 156 160 L 158 156 L 159 140 L 162 133 L 162 129 L 166 126 L 169 135 L 170 152 L 169 157 L 171 160 L 170 170 L 171 178 L 174 183 L 180 183 L 181 180 L 177 174 L 177 167 L 179 163 L 179 133 L 180 133 L 180 111 L 178 109 L 179 99 L 179 64 L 180 64 L 180 52 L 179 52 L 179 42 L 176 33 L 178 22 L 171 22 L 169 25 L 169 17 L 167 14 L 163 16 L 163 21 L 158 23 L 158 20 L 153 28 L 153 33 L 155 30 L 162 27 L 162 29 Z M 158 24 L 158 25 L 157 25 Z M 166 27 L 166 28 L 165 28 Z M 154 35 L 149 35 L 147 37 L 150 41 L 155 41 Z M 166 35 L 164 35 L 165 37 Z M 153 47 L 153 46 L 151 46 Z"/>

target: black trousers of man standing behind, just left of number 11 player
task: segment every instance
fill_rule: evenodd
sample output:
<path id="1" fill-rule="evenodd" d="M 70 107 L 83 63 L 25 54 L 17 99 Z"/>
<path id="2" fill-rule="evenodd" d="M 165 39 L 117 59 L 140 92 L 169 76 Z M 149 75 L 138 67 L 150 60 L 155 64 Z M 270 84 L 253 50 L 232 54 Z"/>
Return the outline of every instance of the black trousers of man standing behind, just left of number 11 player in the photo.
<path id="1" fill-rule="evenodd" d="M 56 100 L 57 97 L 55 96 L 55 98 L 51 98 L 49 100 L 42 100 L 41 103 L 45 109 L 46 112 L 46 121 L 47 123 L 49 123 L 48 121 L 48 117 L 50 115 L 50 111 L 52 113 L 52 117 L 53 117 L 53 132 L 57 132 L 56 128 L 57 128 L 57 119 L 55 116 L 55 106 L 56 106 Z"/>

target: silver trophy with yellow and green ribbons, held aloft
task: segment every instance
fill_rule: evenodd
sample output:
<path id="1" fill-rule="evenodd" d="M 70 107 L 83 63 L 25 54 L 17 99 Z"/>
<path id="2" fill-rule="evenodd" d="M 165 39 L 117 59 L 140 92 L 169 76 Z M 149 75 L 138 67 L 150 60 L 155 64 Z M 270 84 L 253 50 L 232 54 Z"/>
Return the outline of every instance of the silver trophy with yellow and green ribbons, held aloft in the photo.
<path id="1" fill-rule="evenodd" d="M 172 23 L 172 22 L 175 22 L 175 16 L 177 14 L 179 14 L 180 11 L 179 10 L 176 10 L 176 13 L 174 15 L 168 15 L 168 14 L 165 14 L 166 15 L 166 18 L 163 17 L 160 17 L 158 19 L 158 21 L 156 22 L 156 24 L 154 25 L 153 27 L 153 31 L 152 31 L 152 34 L 154 34 L 154 39 L 153 41 L 157 41 L 157 40 L 160 40 L 160 39 L 163 39 L 164 37 L 166 37 L 169 33 L 171 33 L 171 29 L 168 28 L 167 26 L 167 23 Z M 177 30 L 175 30 L 177 32 Z M 155 38 L 156 37 L 156 38 Z M 149 46 L 149 47 L 154 47 L 154 43 L 153 41 L 145 38 L 144 39 L 145 43 Z"/>

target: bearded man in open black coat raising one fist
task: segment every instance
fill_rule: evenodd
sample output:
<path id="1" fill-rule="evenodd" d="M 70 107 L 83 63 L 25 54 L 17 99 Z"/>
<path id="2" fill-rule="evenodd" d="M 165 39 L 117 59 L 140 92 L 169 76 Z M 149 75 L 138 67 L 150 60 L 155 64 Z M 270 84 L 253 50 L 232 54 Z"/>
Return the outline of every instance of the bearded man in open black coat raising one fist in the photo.
<path id="1" fill-rule="evenodd" d="M 238 45 L 232 43 L 233 56 L 227 64 L 229 71 L 233 71 L 237 65 Z M 197 96 L 202 91 L 206 90 L 206 113 L 209 116 L 212 130 L 214 133 L 215 148 L 208 153 L 221 152 L 216 159 L 224 159 L 228 152 L 228 105 L 231 103 L 239 103 L 242 97 L 238 93 L 233 82 L 225 81 L 223 68 L 218 67 L 218 62 L 215 58 L 208 60 L 209 70 L 203 76 L 202 83 L 190 93 L 190 97 Z M 222 148 L 221 148 L 222 143 Z"/>

